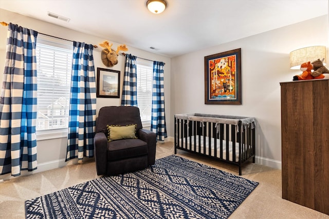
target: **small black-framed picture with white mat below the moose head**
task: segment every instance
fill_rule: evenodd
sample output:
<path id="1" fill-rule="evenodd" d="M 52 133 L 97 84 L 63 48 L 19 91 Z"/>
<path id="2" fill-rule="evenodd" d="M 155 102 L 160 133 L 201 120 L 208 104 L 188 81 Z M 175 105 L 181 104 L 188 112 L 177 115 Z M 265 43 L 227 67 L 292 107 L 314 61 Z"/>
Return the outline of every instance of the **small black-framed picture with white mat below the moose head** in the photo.
<path id="1" fill-rule="evenodd" d="M 120 71 L 97 68 L 96 96 L 120 98 Z"/>

